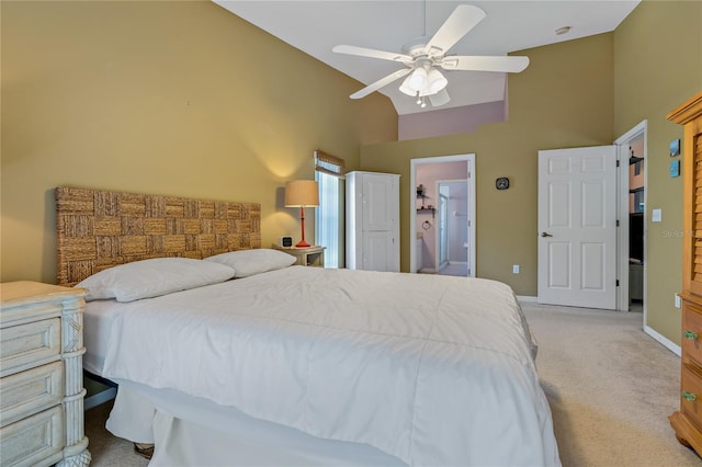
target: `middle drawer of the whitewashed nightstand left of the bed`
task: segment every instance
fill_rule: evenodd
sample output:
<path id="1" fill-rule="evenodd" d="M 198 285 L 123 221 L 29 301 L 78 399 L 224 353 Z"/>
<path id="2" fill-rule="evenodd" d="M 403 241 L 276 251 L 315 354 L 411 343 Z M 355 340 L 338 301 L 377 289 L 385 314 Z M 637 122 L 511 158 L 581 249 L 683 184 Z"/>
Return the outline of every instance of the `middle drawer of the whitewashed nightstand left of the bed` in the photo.
<path id="1" fill-rule="evenodd" d="M 64 362 L 5 376 L 0 380 L 0 426 L 61 403 Z"/>

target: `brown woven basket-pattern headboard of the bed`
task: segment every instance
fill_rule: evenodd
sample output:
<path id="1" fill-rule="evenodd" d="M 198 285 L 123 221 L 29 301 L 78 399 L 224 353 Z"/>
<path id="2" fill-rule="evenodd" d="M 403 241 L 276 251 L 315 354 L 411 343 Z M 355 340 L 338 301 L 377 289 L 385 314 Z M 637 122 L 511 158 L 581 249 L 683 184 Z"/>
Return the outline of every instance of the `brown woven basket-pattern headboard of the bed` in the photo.
<path id="1" fill-rule="evenodd" d="M 58 284 L 162 257 L 202 259 L 261 248 L 261 205 L 56 189 Z"/>

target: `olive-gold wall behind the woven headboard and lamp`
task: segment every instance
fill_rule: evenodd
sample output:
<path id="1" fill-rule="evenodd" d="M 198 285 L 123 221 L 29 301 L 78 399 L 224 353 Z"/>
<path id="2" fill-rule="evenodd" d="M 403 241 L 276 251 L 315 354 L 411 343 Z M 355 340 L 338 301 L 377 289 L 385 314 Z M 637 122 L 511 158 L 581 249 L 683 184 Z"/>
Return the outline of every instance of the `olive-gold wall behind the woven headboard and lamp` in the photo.
<path id="1" fill-rule="evenodd" d="M 385 96 L 351 101 L 356 81 L 210 1 L 0 13 L 3 282 L 56 282 L 57 185 L 259 202 L 269 246 L 299 236 L 282 187 L 314 178 L 315 148 L 353 170 L 397 138 Z"/>

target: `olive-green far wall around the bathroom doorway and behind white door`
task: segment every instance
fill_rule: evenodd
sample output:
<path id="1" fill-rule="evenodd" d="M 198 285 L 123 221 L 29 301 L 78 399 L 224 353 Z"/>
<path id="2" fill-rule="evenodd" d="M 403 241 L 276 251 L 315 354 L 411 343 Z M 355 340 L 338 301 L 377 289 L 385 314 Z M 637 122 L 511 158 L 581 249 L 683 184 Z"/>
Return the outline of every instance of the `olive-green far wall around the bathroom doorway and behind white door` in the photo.
<path id="1" fill-rule="evenodd" d="M 401 174 L 403 271 L 409 271 L 410 160 L 474 152 L 477 275 L 536 295 L 537 152 L 614 140 L 612 38 L 601 34 L 516 53 L 531 64 L 509 76 L 508 122 L 472 134 L 363 147 L 363 170 Z M 509 190 L 495 189 L 498 176 L 510 179 Z M 519 275 L 512 264 L 521 265 Z"/>

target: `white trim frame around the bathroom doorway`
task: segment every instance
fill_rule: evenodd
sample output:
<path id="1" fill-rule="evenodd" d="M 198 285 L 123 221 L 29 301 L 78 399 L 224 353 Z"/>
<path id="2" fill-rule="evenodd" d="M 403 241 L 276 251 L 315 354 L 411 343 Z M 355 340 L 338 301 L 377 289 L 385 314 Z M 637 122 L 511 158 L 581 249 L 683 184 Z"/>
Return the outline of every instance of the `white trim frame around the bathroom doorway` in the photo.
<path id="1" fill-rule="evenodd" d="M 471 225 L 468 226 L 468 244 L 471 246 L 471 251 L 468 252 L 468 276 L 476 277 L 476 257 L 477 257 L 477 244 L 476 244 L 476 174 L 475 174 L 475 152 L 464 153 L 464 155 L 454 155 L 454 156 L 438 156 L 438 157 L 427 157 L 427 158 L 418 158 L 410 159 L 410 170 L 409 170 L 409 238 L 410 248 L 409 248 L 409 272 L 414 272 L 417 269 L 417 260 L 415 258 L 415 252 L 417 251 L 417 166 L 423 163 L 444 163 L 444 162 L 460 162 L 466 161 L 468 164 L 468 173 L 466 175 L 466 183 L 468 184 L 468 218 L 471 219 Z"/>

